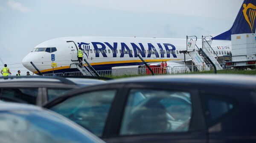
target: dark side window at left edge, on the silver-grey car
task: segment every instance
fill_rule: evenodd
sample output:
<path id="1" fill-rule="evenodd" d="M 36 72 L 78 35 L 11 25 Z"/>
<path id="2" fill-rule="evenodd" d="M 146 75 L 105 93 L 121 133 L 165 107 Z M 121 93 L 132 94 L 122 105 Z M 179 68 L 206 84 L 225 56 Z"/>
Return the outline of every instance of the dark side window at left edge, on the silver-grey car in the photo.
<path id="1" fill-rule="evenodd" d="M 38 88 L 3 88 L 1 96 L 6 101 L 36 104 Z"/>

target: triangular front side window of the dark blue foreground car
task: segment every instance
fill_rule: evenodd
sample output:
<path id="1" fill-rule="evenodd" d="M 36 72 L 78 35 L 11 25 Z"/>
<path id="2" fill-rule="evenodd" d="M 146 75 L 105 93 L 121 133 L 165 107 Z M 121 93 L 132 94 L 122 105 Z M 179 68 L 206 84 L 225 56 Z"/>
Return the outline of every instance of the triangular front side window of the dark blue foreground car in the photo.
<path id="1" fill-rule="evenodd" d="M 115 95 L 116 90 L 81 93 L 55 105 L 51 110 L 100 137 Z"/>

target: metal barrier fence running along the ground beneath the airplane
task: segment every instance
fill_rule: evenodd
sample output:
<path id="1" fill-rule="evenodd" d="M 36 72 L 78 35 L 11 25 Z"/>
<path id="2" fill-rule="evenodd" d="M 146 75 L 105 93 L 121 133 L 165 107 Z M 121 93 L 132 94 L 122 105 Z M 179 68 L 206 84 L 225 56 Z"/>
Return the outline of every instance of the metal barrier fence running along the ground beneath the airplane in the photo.
<path id="1" fill-rule="evenodd" d="M 225 70 L 237 71 L 233 67 L 226 67 L 225 64 L 220 64 L 223 70 L 218 70 L 217 73 L 225 73 Z M 208 66 L 210 71 L 204 70 L 205 66 Z M 200 68 L 200 70 L 198 69 Z M 156 75 L 160 74 L 184 74 L 184 73 L 214 73 L 214 67 L 212 65 L 184 65 L 175 67 L 151 67 L 152 71 Z M 148 68 L 125 68 L 125 69 L 112 69 L 112 70 L 98 70 L 96 71 L 100 76 L 126 76 L 126 75 L 151 75 Z M 256 74 L 256 70 L 252 70 L 251 73 Z M 68 73 L 52 73 L 44 74 L 44 76 L 83 76 L 81 72 L 68 72 Z"/>

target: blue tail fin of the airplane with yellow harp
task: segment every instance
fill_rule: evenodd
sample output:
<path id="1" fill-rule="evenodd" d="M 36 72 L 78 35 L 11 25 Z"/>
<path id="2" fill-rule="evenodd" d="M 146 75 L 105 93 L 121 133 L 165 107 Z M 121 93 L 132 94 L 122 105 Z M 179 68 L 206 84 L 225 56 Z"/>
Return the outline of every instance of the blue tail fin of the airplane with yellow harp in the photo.
<path id="1" fill-rule="evenodd" d="M 255 33 L 256 0 L 244 0 L 230 30 L 213 37 L 215 40 L 231 40 L 232 34 Z"/>

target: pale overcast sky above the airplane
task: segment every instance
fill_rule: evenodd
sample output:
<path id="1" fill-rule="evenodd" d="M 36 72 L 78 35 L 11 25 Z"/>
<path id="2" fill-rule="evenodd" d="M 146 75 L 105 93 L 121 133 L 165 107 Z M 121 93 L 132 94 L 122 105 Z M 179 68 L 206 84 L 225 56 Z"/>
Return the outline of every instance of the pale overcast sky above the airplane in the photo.
<path id="1" fill-rule="evenodd" d="M 243 0 L 0 0 L 0 58 L 10 70 L 32 48 L 64 36 L 217 35 Z M 2 68 L 0 60 L 0 68 Z"/>

